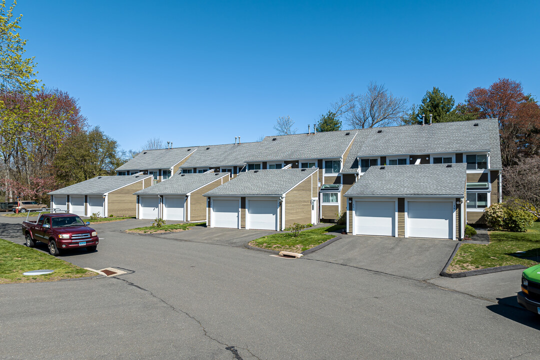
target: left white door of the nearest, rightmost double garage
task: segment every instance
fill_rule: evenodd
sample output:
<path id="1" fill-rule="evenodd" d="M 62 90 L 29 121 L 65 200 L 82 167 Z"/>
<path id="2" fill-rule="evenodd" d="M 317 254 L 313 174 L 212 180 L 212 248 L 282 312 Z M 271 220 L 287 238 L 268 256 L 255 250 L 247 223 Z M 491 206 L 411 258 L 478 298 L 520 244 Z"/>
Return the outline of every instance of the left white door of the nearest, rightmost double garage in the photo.
<path id="1" fill-rule="evenodd" d="M 395 235 L 395 201 L 356 201 L 356 235 Z"/>

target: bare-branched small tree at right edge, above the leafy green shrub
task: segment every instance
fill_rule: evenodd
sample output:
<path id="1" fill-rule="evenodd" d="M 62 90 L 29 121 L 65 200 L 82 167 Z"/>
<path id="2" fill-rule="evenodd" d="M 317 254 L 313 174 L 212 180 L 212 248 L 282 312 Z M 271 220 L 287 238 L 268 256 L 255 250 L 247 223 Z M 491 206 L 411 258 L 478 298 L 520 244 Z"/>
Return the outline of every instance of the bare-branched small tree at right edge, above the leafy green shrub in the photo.
<path id="1" fill-rule="evenodd" d="M 503 170 L 505 202 L 517 205 L 540 219 L 540 157 L 521 158 Z"/>

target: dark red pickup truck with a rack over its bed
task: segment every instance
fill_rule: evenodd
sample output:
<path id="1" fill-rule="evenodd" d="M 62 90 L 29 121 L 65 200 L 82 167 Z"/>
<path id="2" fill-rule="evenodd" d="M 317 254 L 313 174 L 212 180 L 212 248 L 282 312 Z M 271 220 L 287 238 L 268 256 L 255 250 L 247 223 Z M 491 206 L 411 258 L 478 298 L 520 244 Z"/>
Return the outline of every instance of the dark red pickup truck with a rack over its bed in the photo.
<path id="1" fill-rule="evenodd" d="M 28 219 L 28 218 L 27 218 Z M 85 247 L 96 251 L 99 237 L 79 216 L 69 213 L 39 214 L 36 222 L 23 221 L 26 246 L 32 248 L 36 241 L 49 245 L 49 253 L 58 256 L 63 250 Z"/>

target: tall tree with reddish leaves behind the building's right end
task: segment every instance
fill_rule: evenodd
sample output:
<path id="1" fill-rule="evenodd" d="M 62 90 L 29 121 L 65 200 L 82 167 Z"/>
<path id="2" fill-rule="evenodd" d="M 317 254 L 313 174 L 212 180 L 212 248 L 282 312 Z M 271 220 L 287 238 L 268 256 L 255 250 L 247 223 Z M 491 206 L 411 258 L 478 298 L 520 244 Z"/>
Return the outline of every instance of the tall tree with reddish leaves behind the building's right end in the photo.
<path id="1" fill-rule="evenodd" d="M 488 89 L 477 87 L 465 98 L 464 110 L 477 118 L 498 118 L 503 166 L 540 150 L 540 107 L 515 80 L 498 79 Z"/>

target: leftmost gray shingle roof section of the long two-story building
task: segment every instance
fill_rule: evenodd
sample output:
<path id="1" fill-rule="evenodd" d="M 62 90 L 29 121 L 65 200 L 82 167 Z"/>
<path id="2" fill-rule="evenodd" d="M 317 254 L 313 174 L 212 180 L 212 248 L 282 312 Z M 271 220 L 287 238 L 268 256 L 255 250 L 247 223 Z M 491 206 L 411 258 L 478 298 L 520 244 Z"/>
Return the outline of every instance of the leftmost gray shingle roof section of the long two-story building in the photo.
<path id="1" fill-rule="evenodd" d="M 116 171 L 168 169 L 178 164 L 187 155 L 197 149 L 192 147 L 176 147 L 172 149 L 144 150 L 136 157 L 118 167 Z"/>

